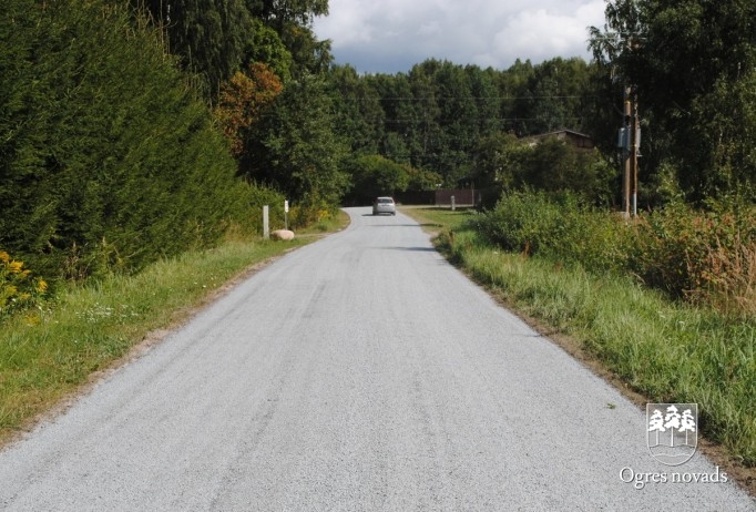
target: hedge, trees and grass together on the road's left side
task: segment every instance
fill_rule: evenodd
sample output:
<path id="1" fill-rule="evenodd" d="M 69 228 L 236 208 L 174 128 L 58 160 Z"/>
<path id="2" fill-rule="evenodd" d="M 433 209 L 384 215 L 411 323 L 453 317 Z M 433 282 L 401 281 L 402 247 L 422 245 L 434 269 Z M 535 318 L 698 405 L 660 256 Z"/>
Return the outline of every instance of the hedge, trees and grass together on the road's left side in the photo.
<path id="1" fill-rule="evenodd" d="M 327 1 L 170 9 L 0 2 L 0 438 L 344 222 Z"/>

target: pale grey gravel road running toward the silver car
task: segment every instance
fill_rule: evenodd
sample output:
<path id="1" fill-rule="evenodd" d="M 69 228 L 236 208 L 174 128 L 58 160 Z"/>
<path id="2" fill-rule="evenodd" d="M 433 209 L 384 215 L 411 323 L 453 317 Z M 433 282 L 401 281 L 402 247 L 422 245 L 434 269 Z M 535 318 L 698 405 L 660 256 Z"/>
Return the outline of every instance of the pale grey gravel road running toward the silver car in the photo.
<path id="1" fill-rule="evenodd" d="M 417 223 L 348 213 L 3 450 L 0 509 L 756 510 Z"/>

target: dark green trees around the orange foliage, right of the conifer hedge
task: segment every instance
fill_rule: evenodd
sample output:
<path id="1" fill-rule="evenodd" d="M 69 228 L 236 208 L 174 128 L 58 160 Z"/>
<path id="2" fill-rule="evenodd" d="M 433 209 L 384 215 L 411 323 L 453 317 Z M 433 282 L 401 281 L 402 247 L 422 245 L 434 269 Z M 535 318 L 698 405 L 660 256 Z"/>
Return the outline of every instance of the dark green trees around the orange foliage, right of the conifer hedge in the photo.
<path id="1" fill-rule="evenodd" d="M 314 17 L 327 14 L 327 0 L 131 0 L 131 4 L 149 14 L 182 66 L 204 78 L 203 93 L 211 104 L 218 103 L 235 72 L 257 63 L 288 84 L 276 104 L 260 112 L 263 119 L 255 119 L 244 129 L 243 140 L 235 141 L 242 145 L 234 147 L 241 155 L 238 172 L 316 211 L 323 209 L 321 202 L 329 207 L 338 203 L 346 188 L 337 168 L 340 143 L 334 142 L 339 134 L 330 121 L 325 89 L 309 85 L 331 60 L 329 42 L 317 40 L 311 30 Z M 335 151 L 328 154 L 330 150 Z"/>

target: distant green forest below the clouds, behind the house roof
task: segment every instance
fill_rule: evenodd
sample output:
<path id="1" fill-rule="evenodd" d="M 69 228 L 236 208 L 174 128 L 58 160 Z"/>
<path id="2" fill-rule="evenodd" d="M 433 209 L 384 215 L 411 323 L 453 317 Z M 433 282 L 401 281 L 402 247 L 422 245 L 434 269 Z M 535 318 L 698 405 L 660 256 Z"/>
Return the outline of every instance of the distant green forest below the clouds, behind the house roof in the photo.
<path id="1" fill-rule="evenodd" d="M 481 141 L 582 127 L 590 78 L 580 59 L 518 61 L 507 71 L 431 59 L 408 74 L 359 78 L 337 66 L 329 75 L 353 151 L 372 154 L 379 141 L 380 155 L 438 173 L 445 186 L 472 180 L 479 188 L 492 185 L 481 168 Z"/>

